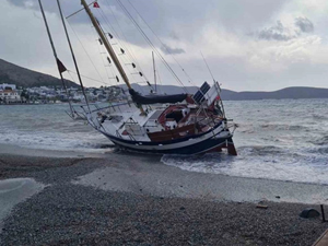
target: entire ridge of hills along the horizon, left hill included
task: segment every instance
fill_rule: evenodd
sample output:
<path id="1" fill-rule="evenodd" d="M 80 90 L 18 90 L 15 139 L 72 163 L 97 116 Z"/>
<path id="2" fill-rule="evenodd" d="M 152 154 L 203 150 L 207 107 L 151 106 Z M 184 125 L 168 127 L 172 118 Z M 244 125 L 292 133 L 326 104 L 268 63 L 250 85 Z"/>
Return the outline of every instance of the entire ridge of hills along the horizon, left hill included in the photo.
<path id="1" fill-rule="evenodd" d="M 11 83 L 17 86 L 61 86 L 61 81 L 58 78 L 33 71 L 14 63 L 0 59 L 0 84 Z M 68 86 L 78 87 L 77 83 L 66 80 Z M 120 85 L 125 86 L 126 85 Z M 132 84 L 132 87 L 143 94 L 150 92 L 147 85 Z M 197 86 L 186 86 L 185 89 L 176 85 L 157 85 L 159 93 L 177 94 L 177 93 L 195 93 Z M 226 101 L 247 101 L 247 99 L 284 99 L 284 98 L 328 98 L 328 89 L 311 87 L 311 86 L 291 86 L 272 92 L 265 91 L 244 91 L 235 92 L 231 90 L 222 90 L 222 98 Z"/>

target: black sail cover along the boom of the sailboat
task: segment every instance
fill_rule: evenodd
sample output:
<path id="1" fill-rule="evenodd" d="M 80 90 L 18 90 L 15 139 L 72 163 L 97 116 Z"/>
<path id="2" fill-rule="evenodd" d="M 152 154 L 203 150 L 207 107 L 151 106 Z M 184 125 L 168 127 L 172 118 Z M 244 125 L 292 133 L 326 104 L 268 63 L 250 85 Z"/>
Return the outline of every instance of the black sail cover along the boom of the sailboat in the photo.
<path id="1" fill-rule="evenodd" d="M 187 94 L 175 94 L 175 95 L 147 95 L 143 96 L 136 92 L 133 89 L 129 90 L 132 99 L 137 104 L 165 104 L 165 103 L 179 103 L 187 98 Z"/>

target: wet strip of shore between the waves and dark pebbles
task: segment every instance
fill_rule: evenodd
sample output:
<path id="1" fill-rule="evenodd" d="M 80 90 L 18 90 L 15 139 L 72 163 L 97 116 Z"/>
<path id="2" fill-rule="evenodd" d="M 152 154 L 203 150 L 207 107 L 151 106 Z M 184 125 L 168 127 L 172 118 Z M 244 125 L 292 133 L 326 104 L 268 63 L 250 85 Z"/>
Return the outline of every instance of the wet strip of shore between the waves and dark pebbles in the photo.
<path id="1" fill-rule="evenodd" d="M 75 165 L 75 163 L 87 162 L 97 163 L 97 165 L 92 168 L 92 172 L 80 177 L 80 180 L 82 179 L 81 185 L 86 184 L 104 190 L 110 190 L 110 187 L 104 186 L 102 179 L 117 179 L 117 183 L 127 179 L 127 183 L 133 181 L 138 186 L 145 186 L 145 188 L 154 188 L 157 186 L 156 181 L 163 179 L 165 184 L 180 183 L 185 192 L 194 192 L 197 196 L 208 192 L 215 199 L 233 202 L 265 200 L 303 204 L 328 204 L 328 185 L 325 184 L 190 172 L 177 166 L 166 165 L 161 162 L 161 157 L 162 155 L 142 155 L 131 152 L 125 154 L 114 150 L 92 153 L 37 150 L 0 144 L 0 180 L 33 177 L 36 171 L 65 168 Z M 148 181 L 144 183 L 144 179 Z M 125 190 L 114 183 L 112 185 L 116 186 L 118 190 L 134 192 L 133 189 Z M 199 189 L 198 186 L 200 185 L 206 187 L 206 189 Z M 175 189 L 175 187 L 165 188 Z M 222 191 L 222 188 L 225 188 L 226 191 Z M 183 196 L 179 192 L 172 192 L 177 197 Z M 150 195 L 162 196 L 157 191 L 150 191 Z M 198 198 L 197 196 L 192 198 Z"/>

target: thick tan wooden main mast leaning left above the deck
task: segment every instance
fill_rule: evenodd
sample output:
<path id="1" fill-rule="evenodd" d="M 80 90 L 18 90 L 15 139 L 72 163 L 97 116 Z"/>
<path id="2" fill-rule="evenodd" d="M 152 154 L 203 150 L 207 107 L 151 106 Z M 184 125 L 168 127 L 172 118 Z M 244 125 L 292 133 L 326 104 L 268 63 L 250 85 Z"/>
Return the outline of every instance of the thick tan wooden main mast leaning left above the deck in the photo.
<path id="1" fill-rule="evenodd" d="M 119 62 L 119 60 L 118 60 L 118 58 L 117 58 L 117 56 L 116 56 L 116 54 L 115 54 L 112 45 L 109 44 L 109 42 L 108 42 L 107 37 L 105 36 L 103 30 L 101 28 L 101 26 L 98 24 L 98 21 L 95 19 L 95 16 L 93 15 L 93 13 L 91 12 L 91 10 L 90 10 L 89 5 L 86 4 L 85 0 L 81 0 L 81 3 L 84 7 L 84 9 L 85 9 L 85 11 L 86 11 L 86 13 L 87 13 L 87 15 L 89 15 L 92 24 L 94 25 L 94 27 L 96 30 L 96 32 L 98 33 L 98 35 L 99 35 L 99 37 L 101 37 L 101 39 L 102 39 L 102 42 L 103 42 L 106 50 L 108 51 L 109 56 L 112 57 L 112 59 L 113 59 L 113 61 L 114 61 L 114 63 L 115 63 L 115 66 L 116 66 L 116 68 L 118 70 L 120 77 L 122 78 L 124 82 L 127 84 L 128 89 L 131 90 L 132 86 L 131 86 L 131 84 L 129 82 L 129 79 L 128 79 L 128 77 L 127 77 L 124 68 L 121 67 L 121 65 L 120 65 L 120 62 Z M 137 105 L 137 106 L 139 107 L 140 112 L 141 112 L 141 115 L 147 115 L 141 105 Z"/>

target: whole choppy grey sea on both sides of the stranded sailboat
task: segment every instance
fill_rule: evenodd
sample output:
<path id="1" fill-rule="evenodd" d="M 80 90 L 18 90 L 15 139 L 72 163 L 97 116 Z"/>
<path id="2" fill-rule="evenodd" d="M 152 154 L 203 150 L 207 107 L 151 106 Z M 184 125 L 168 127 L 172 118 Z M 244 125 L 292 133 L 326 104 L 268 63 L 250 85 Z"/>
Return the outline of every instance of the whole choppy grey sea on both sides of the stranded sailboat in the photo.
<path id="1" fill-rule="evenodd" d="M 229 101 L 224 106 L 238 125 L 237 156 L 163 155 L 162 163 L 189 172 L 328 184 L 328 99 Z M 67 104 L 0 105 L 0 144 L 110 154 L 109 140 L 66 110 Z"/>

